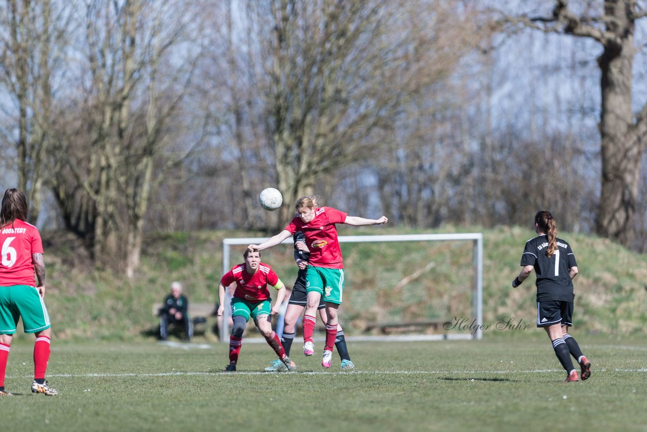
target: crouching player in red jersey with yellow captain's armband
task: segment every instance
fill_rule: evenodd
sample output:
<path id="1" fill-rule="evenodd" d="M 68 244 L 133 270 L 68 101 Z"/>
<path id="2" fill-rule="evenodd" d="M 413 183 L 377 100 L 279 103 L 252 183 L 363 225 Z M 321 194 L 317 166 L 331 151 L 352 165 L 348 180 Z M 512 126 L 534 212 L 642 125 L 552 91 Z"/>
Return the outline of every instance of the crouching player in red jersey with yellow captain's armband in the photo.
<path id="1" fill-rule="evenodd" d="M 288 370 L 296 370 L 296 365 L 283 349 L 281 339 L 272 330 L 272 321 L 270 315 L 276 315 L 279 312 L 283 297 L 285 297 L 285 285 L 278 278 L 272 267 L 261 262 L 261 253 L 252 252 L 245 249 L 243 253 L 245 262 L 232 267 L 225 273 L 223 279 L 218 285 L 218 316 L 223 315 L 225 309 L 225 288 L 236 282 L 236 291 L 232 298 L 232 334 L 229 337 L 229 364 L 225 368 L 228 372 L 236 371 L 238 354 L 243 343 L 243 332 L 247 321 L 252 317 L 256 321 L 256 326 L 261 332 L 268 345 L 272 347 L 276 355 L 283 362 Z M 271 306 L 272 299 L 270 291 L 267 289 L 270 284 L 276 292 L 276 302 Z"/>

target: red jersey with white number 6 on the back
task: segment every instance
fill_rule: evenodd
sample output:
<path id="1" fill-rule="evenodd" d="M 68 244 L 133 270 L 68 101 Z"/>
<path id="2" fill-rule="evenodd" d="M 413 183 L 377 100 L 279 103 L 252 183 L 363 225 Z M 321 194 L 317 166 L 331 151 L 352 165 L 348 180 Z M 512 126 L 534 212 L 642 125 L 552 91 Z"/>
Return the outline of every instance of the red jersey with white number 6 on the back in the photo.
<path id="1" fill-rule="evenodd" d="M 17 219 L 0 228 L 0 245 L 0 286 L 36 286 L 32 253 L 43 253 L 38 228 Z"/>

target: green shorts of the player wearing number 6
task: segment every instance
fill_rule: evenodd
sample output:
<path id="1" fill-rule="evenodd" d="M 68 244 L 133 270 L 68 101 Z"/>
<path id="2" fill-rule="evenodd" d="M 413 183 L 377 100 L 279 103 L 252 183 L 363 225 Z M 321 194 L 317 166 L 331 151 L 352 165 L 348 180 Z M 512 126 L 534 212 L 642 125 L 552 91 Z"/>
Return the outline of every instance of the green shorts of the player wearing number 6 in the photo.
<path id="1" fill-rule="evenodd" d="M 38 290 L 28 285 L 0 286 L 0 334 L 16 333 L 22 317 L 25 333 L 50 328 L 49 314 Z"/>

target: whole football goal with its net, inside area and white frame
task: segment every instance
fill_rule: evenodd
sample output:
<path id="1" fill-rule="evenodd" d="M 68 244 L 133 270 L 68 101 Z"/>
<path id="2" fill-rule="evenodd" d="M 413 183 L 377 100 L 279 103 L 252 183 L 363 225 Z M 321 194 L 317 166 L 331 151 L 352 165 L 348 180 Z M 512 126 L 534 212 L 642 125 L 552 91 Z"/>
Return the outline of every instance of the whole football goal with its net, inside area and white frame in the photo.
<path id="1" fill-rule="evenodd" d="M 339 317 L 347 339 L 481 339 L 483 234 L 340 235 L 338 239 L 345 273 Z M 225 238 L 223 274 L 243 262 L 248 245 L 265 240 Z M 270 264 L 288 288 L 298 273 L 293 255 L 291 237 L 261 252 L 261 261 Z M 220 326 L 223 342 L 229 340 L 230 314 L 225 307 Z"/>

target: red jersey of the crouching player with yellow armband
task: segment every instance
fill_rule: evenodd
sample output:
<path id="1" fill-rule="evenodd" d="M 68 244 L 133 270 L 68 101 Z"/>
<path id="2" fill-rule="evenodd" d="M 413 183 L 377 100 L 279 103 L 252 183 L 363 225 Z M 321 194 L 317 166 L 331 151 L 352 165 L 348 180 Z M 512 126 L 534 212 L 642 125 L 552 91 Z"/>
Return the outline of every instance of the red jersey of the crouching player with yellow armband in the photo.
<path id="1" fill-rule="evenodd" d="M 245 263 L 243 263 L 232 267 L 220 280 L 225 287 L 236 282 L 234 297 L 250 302 L 269 300 L 270 291 L 267 289 L 267 284 L 275 286 L 278 281 L 279 277 L 274 273 L 272 267 L 262 262 L 258 265 L 258 270 L 253 275 L 245 271 Z"/>

